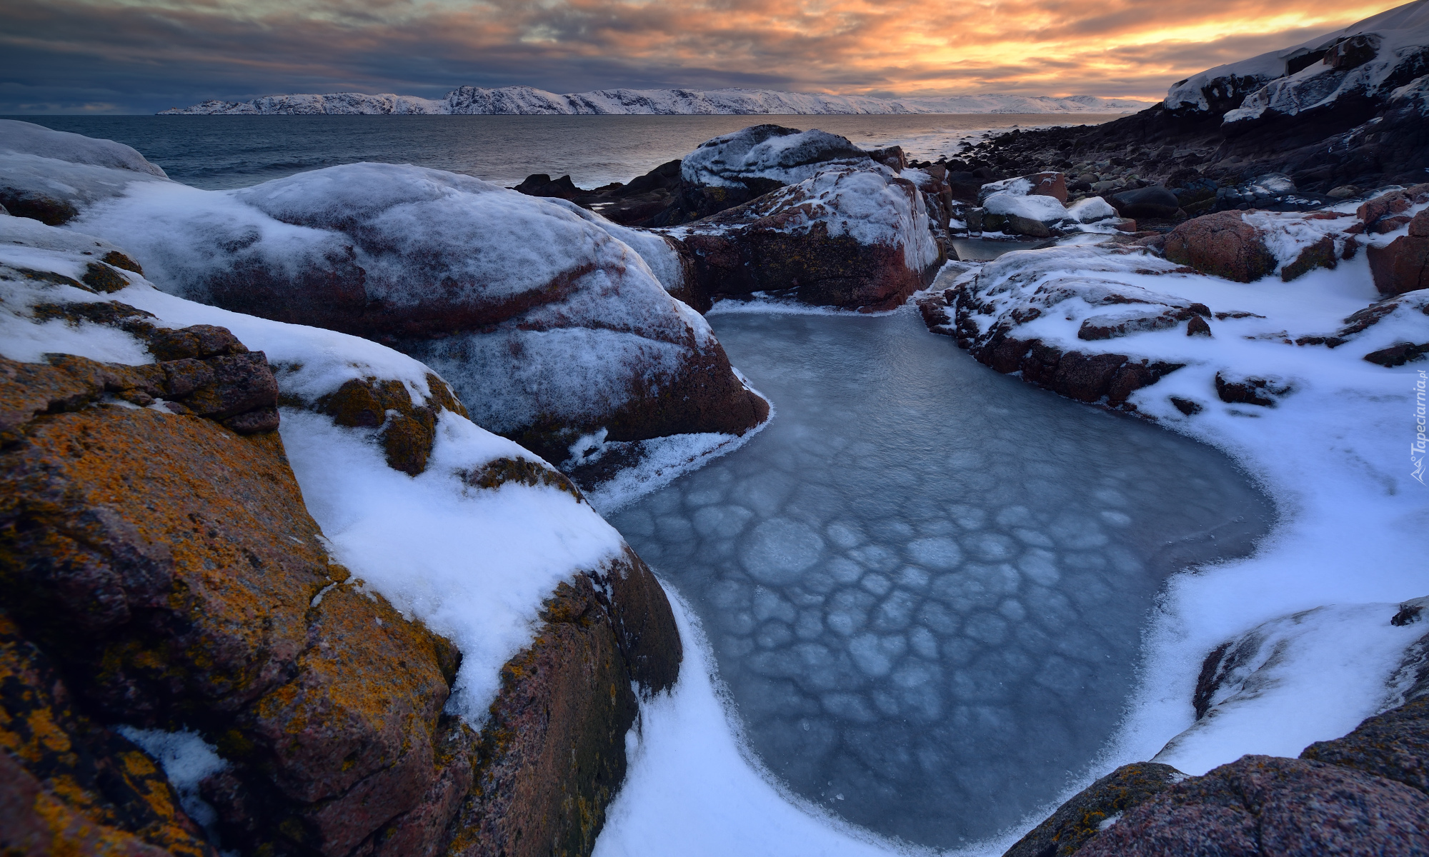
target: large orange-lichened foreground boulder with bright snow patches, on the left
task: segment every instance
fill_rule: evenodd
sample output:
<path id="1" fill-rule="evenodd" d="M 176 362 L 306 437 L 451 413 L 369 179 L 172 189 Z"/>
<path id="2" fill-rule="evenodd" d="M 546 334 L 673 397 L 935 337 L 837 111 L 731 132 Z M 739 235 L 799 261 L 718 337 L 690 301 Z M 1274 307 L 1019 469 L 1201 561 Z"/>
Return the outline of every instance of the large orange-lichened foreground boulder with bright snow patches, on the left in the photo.
<path id="1" fill-rule="evenodd" d="M 682 644 L 564 476 L 94 236 L 0 214 L 0 848 L 590 853 Z"/>

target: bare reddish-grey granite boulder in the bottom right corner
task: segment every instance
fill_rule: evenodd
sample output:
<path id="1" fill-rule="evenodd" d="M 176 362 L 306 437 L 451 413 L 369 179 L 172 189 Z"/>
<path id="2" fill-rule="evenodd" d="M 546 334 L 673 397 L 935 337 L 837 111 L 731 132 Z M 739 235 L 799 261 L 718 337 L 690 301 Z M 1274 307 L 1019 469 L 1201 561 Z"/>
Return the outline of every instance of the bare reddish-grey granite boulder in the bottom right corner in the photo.
<path id="1" fill-rule="evenodd" d="M 1429 796 L 1319 761 L 1245 756 L 1126 811 L 1083 857 L 1422 854 Z"/>

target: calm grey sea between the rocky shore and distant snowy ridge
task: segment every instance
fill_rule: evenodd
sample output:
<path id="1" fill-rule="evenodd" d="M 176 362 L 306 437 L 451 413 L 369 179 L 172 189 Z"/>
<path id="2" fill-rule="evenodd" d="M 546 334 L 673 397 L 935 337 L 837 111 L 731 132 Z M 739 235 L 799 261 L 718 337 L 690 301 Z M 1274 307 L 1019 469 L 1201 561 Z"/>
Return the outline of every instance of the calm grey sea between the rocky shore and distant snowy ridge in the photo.
<path id="1" fill-rule="evenodd" d="M 532 173 L 582 187 L 629 181 L 729 131 L 777 123 L 916 157 L 952 154 L 989 129 L 1097 124 L 1113 114 L 957 116 L 11 116 L 133 146 L 170 179 L 246 187 L 303 170 L 384 161 L 512 186 Z"/>

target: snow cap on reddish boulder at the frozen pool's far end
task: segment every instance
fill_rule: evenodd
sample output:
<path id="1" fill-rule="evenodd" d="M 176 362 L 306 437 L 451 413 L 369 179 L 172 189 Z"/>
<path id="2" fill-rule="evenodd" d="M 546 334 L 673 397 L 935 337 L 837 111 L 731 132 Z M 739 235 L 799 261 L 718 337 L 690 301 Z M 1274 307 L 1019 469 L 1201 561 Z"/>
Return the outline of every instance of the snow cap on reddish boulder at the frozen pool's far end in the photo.
<path id="1" fill-rule="evenodd" d="M 937 261 L 927 210 L 912 181 L 883 164 L 823 166 L 810 179 L 753 203 L 663 231 L 674 237 L 719 233 L 737 229 L 743 221 L 762 220 L 790 234 L 809 234 L 822 227 L 832 237 L 849 236 L 860 244 L 900 247 L 905 264 L 913 271 Z"/>

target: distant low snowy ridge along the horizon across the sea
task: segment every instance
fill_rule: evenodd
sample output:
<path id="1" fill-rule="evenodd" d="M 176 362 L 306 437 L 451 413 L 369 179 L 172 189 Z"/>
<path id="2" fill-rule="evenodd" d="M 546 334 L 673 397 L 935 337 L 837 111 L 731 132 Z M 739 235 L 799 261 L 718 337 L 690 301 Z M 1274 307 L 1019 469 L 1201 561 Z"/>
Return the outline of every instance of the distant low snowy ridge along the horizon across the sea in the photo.
<path id="1" fill-rule="evenodd" d="M 889 113 L 1133 113 L 1150 101 L 1096 96 L 945 96 L 873 99 L 776 90 L 593 90 L 559 96 L 529 86 L 483 89 L 463 86 L 444 99 L 363 93 L 264 96 L 252 101 L 210 100 L 159 116 L 707 116 L 707 114 L 889 114 Z"/>

